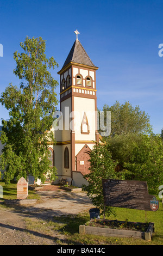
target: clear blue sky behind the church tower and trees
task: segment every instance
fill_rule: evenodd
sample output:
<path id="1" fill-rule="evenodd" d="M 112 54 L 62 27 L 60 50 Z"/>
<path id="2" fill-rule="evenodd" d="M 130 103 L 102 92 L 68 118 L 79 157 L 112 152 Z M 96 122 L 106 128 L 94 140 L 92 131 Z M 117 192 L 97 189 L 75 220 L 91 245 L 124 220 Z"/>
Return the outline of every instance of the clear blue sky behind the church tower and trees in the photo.
<path id="1" fill-rule="evenodd" d="M 96 71 L 97 106 L 102 109 L 115 101 L 129 101 L 139 105 L 151 117 L 154 133 L 163 127 L 163 44 L 162 0 L 79 0 L 79 1 L 8 1 L 0 2 L 0 94 L 12 83 L 18 85 L 13 74 L 13 53 L 21 52 L 20 42 L 26 36 L 41 36 L 46 40 L 47 57 L 54 56 L 59 68 L 78 39 Z M 57 88 L 59 100 L 59 87 Z M 8 112 L 0 106 L 0 118 Z M 0 123 L 1 124 L 1 123 Z"/>

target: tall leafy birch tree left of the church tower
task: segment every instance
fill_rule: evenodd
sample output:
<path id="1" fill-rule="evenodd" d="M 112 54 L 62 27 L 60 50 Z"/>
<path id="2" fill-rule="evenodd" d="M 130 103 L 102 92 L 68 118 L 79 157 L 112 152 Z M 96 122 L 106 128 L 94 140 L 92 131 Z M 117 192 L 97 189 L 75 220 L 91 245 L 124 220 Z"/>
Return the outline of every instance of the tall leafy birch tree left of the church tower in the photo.
<path id="1" fill-rule="evenodd" d="M 14 53 L 14 74 L 21 80 L 20 86 L 10 84 L 2 93 L 0 102 L 9 111 L 9 120 L 2 120 L 1 141 L 5 144 L 0 158 L 5 169 L 5 182 L 28 179 L 33 175 L 45 181 L 46 175 L 55 179 L 56 168 L 50 167 L 48 144 L 55 143 L 51 130 L 53 112 L 57 105 L 54 80 L 49 69 L 58 64 L 54 58 L 46 58 L 46 42 L 42 38 L 28 36 L 20 46 L 22 53 Z M 48 131 L 48 132 L 47 132 Z"/>

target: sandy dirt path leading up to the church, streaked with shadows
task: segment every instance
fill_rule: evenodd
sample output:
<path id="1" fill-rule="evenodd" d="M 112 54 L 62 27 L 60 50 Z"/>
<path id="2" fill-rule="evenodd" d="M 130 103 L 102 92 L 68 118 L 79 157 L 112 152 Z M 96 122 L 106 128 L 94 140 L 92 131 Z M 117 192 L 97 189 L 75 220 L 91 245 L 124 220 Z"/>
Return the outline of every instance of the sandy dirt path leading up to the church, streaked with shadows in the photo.
<path id="1" fill-rule="evenodd" d="M 46 185 L 37 193 L 41 200 L 34 205 L 13 208 L 0 206 L 0 245 L 55 245 L 57 239 L 64 241 L 66 236 L 54 230 L 50 235 L 43 231 L 32 231 L 27 223 L 50 221 L 54 216 L 76 215 L 92 208 L 83 192 L 65 192 L 57 186 Z"/>

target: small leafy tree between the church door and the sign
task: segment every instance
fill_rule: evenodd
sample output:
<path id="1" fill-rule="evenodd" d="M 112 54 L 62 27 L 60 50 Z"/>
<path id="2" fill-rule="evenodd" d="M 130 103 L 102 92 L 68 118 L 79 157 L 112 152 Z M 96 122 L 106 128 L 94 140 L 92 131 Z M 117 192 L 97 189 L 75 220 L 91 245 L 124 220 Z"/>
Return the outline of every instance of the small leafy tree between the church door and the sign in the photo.
<path id="1" fill-rule="evenodd" d="M 83 185 L 83 188 L 93 205 L 101 210 L 103 218 L 114 213 L 114 210 L 104 205 L 102 179 L 116 179 L 115 167 L 116 163 L 112 160 L 106 143 L 96 144 L 90 153 L 90 173 L 85 175 L 89 185 Z"/>

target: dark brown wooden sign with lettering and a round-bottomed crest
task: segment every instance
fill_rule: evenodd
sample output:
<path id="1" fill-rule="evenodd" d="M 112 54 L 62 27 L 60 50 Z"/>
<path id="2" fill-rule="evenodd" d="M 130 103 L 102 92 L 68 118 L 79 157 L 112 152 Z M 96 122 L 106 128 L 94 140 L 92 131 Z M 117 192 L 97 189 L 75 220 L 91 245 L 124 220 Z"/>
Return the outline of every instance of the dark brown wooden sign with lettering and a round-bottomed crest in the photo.
<path id="1" fill-rule="evenodd" d="M 159 201 L 148 194 L 147 182 L 102 179 L 104 204 L 120 208 L 156 211 Z"/>

